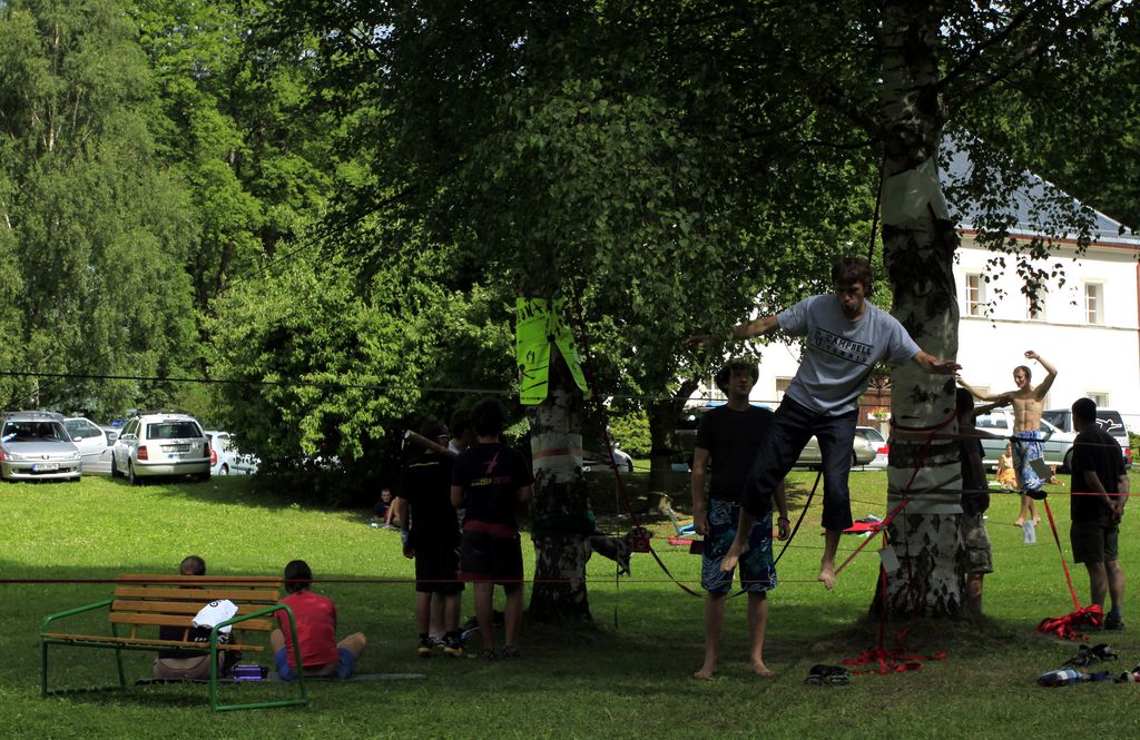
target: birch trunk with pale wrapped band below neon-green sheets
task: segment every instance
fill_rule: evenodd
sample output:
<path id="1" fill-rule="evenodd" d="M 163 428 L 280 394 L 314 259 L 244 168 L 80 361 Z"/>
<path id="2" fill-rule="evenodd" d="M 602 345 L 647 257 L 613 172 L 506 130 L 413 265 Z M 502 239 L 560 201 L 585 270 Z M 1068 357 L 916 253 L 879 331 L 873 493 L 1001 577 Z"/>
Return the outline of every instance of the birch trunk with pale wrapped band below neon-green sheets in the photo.
<path id="1" fill-rule="evenodd" d="M 530 616 L 539 621 L 591 619 L 586 561 L 594 518 L 581 471 L 581 393 L 551 348 L 546 401 L 530 409 L 534 457 L 535 585 Z"/>

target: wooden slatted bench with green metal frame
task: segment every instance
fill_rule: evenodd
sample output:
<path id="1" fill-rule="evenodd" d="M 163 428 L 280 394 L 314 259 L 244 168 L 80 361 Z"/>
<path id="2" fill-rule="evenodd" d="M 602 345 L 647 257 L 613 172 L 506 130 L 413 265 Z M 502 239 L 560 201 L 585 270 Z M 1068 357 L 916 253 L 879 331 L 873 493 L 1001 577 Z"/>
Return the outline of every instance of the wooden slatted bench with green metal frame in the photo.
<path id="1" fill-rule="evenodd" d="M 111 599 L 49 616 L 43 620 L 40 634 L 41 645 L 41 694 L 71 693 L 75 691 L 125 690 L 123 673 L 123 650 L 210 652 L 210 708 L 254 709 L 263 707 L 286 707 L 304 705 L 309 701 L 304 676 L 298 676 L 300 697 L 280 701 L 222 705 L 218 700 L 219 657 L 225 652 L 260 653 L 266 651 L 268 633 L 277 626 L 275 612 L 284 611 L 291 631 L 296 635 L 293 612 L 279 604 L 280 579 L 259 576 L 166 576 L 127 575 L 115 578 L 115 589 Z M 215 625 L 210 633 L 209 644 L 190 642 L 190 620 L 202 607 L 212 601 L 228 599 L 237 605 L 233 619 Z M 62 632 L 63 620 L 97 610 L 107 610 L 109 629 L 104 634 L 81 634 Z M 218 643 L 218 632 L 230 626 L 230 641 Z M 176 627 L 182 631 L 180 640 L 161 640 L 160 627 Z M 259 635 L 259 633 L 262 633 Z M 254 639 L 260 637 L 256 642 Z M 48 648 L 70 645 L 72 648 L 105 648 L 115 651 L 119 684 L 95 689 L 48 689 Z M 269 657 L 270 662 L 272 656 Z"/>

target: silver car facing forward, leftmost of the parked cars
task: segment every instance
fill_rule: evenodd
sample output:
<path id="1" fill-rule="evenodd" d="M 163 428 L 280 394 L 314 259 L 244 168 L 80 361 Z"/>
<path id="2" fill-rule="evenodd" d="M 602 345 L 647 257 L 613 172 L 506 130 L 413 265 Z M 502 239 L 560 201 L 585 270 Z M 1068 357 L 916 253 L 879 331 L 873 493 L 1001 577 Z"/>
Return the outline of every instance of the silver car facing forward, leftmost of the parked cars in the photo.
<path id="1" fill-rule="evenodd" d="M 51 412 L 10 412 L 0 428 L 0 479 L 79 480 L 80 453 Z"/>

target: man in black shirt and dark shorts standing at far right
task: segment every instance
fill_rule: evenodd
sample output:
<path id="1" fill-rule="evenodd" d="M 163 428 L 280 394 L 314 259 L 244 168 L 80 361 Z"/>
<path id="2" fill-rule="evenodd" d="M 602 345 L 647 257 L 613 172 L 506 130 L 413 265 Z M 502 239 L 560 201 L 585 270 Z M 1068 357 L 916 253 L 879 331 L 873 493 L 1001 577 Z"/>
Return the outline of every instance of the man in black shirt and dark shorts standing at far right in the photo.
<path id="1" fill-rule="evenodd" d="M 1081 398 L 1073 404 L 1073 426 L 1077 431 L 1069 503 L 1073 560 L 1089 569 L 1091 603 L 1104 609 L 1105 593 L 1112 596 L 1105 629 L 1123 629 L 1124 570 L 1116 558 L 1129 493 L 1124 456 L 1116 440 L 1097 425 L 1097 404 L 1092 399 Z"/>

